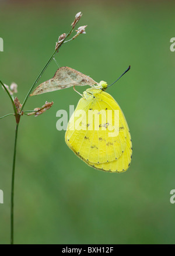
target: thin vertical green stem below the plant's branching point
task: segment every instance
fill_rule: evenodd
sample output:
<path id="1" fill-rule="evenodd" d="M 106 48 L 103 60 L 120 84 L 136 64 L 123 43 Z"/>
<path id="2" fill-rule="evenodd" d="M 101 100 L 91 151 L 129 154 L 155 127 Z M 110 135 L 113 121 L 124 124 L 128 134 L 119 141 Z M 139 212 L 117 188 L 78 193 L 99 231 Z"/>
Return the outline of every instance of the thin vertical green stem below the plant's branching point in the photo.
<path id="1" fill-rule="evenodd" d="M 16 144 L 17 144 L 17 131 L 18 131 L 19 123 L 16 123 L 16 130 L 15 130 L 15 146 L 14 146 L 14 153 L 13 153 L 13 167 L 12 167 L 12 187 L 11 187 L 11 214 L 10 214 L 10 244 L 13 244 L 13 206 L 14 206 L 14 184 L 15 184 L 15 161 L 16 161 Z"/>

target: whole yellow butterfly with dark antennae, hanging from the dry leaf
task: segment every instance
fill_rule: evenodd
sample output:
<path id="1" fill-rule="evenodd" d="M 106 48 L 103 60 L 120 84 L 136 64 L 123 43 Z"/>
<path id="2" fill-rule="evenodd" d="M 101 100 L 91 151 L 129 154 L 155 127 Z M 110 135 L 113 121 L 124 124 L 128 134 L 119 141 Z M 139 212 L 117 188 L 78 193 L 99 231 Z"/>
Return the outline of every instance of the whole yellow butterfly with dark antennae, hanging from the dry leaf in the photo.
<path id="1" fill-rule="evenodd" d="M 132 158 L 131 134 L 120 106 L 105 92 L 109 86 L 101 81 L 83 92 L 68 122 L 65 141 L 91 167 L 124 172 Z"/>

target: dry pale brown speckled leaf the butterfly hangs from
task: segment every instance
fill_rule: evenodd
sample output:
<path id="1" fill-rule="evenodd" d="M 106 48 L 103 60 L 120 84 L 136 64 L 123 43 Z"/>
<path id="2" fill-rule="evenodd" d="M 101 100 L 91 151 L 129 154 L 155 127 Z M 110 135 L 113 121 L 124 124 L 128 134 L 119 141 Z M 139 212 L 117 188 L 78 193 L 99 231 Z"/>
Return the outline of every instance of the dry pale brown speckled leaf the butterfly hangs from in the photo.
<path id="1" fill-rule="evenodd" d="M 79 71 L 74 70 L 69 67 L 61 67 L 55 72 L 53 78 L 46 82 L 38 85 L 38 87 L 33 91 L 30 96 L 44 94 L 45 92 L 57 91 L 64 88 L 69 88 L 74 85 L 84 86 L 84 85 L 95 85 L 97 84 L 88 75 L 84 75 Z"/>

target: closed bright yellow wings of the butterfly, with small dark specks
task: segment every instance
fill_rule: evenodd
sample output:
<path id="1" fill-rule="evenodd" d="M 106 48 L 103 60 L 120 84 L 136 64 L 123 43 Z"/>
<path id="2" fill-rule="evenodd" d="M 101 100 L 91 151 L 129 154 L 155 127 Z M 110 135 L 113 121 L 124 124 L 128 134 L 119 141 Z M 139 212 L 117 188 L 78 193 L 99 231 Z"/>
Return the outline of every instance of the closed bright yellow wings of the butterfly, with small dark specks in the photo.
<path id="1" fill-rule="evenodd" d="M 83 110 L 81 130 L 75 127 L 76 121 L 79 118 L 76 116 L 76 113 L 78 113 L 79 110 Z M 95 116 L 93 116 L 93 119 L 90 119 L 93 120 L 92 123 L 88 122 L 87 116 L 90 115 L 89 112 L 94 110 L 97 111 L 97 115 L 99 114 L 99 130 L 95 129 Z M 102 128 L 104 124 L 106 124 L 103 122 L 103 115 L 107 110 L 112 110 L 113 115 L 114 110 L 118 110 L 118 136 L 108 136 L 114 123 L 107 122 L 106 129 L 103 130 Z M 114 118 L 112 120 L 114 120 Z M 92 130 L 87 129 L 91 126 Z M 128 168 L 132 154 L 131 140 L 129 140 L 129 138 L 128 125 L 118 103 L 115 102 L 111 95 L 103 91 L 96 94 L 95 99 L 80 99 L 74 115 L 72 115 L 69 120 L 68 129 L 65 134 L 66 143 L 83 161 L 94 168 L 114 172 L 120 172 Z M 127 156 L 129 157 L 127 158 Z M 122 160 L 118 161 L 121 157 Z M 116 165 L 117 162 L 121 162 L 121 164 Z"/>

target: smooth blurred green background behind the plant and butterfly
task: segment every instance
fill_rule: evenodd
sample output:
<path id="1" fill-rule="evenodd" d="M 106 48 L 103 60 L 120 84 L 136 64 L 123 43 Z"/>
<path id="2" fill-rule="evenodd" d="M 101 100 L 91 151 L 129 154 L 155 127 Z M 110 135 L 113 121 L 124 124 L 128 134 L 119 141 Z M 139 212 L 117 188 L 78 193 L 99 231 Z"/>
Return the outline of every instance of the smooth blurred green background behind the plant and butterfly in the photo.
<path id="1" fill-rule="evenodd" d="M 15 81 L 23 102 L 31 84 L 68 33 L 75 14 L 86 34 L 61 47 L 60 66 L 108 84 L 131 131 L 131 167 L 122 174 L 98 171 L 67 147 L 56 112 L 78 103 L 72 88 L 30 98 L 25 110 L 54 101 L 41 116 L 23 116 L 15 176 L 16 244 L 174 243 L 174 8 L 171 1 L 1 1 L 0 78 Z M 40 82 L 53 77 L 53 61 Z M 39 84 L 39 83 L 38 83 Z M 88 88 L 88 87 L 86 87 Z M 80 88 L 83 92 L 86 88 Z M 1 88 L 0 88 L 1 89 Z M 12 113 L 0 90 L 1 116 Z M 0 121 L 0 243 L 9 243 L 10 185 L 15 119 Z"/>

